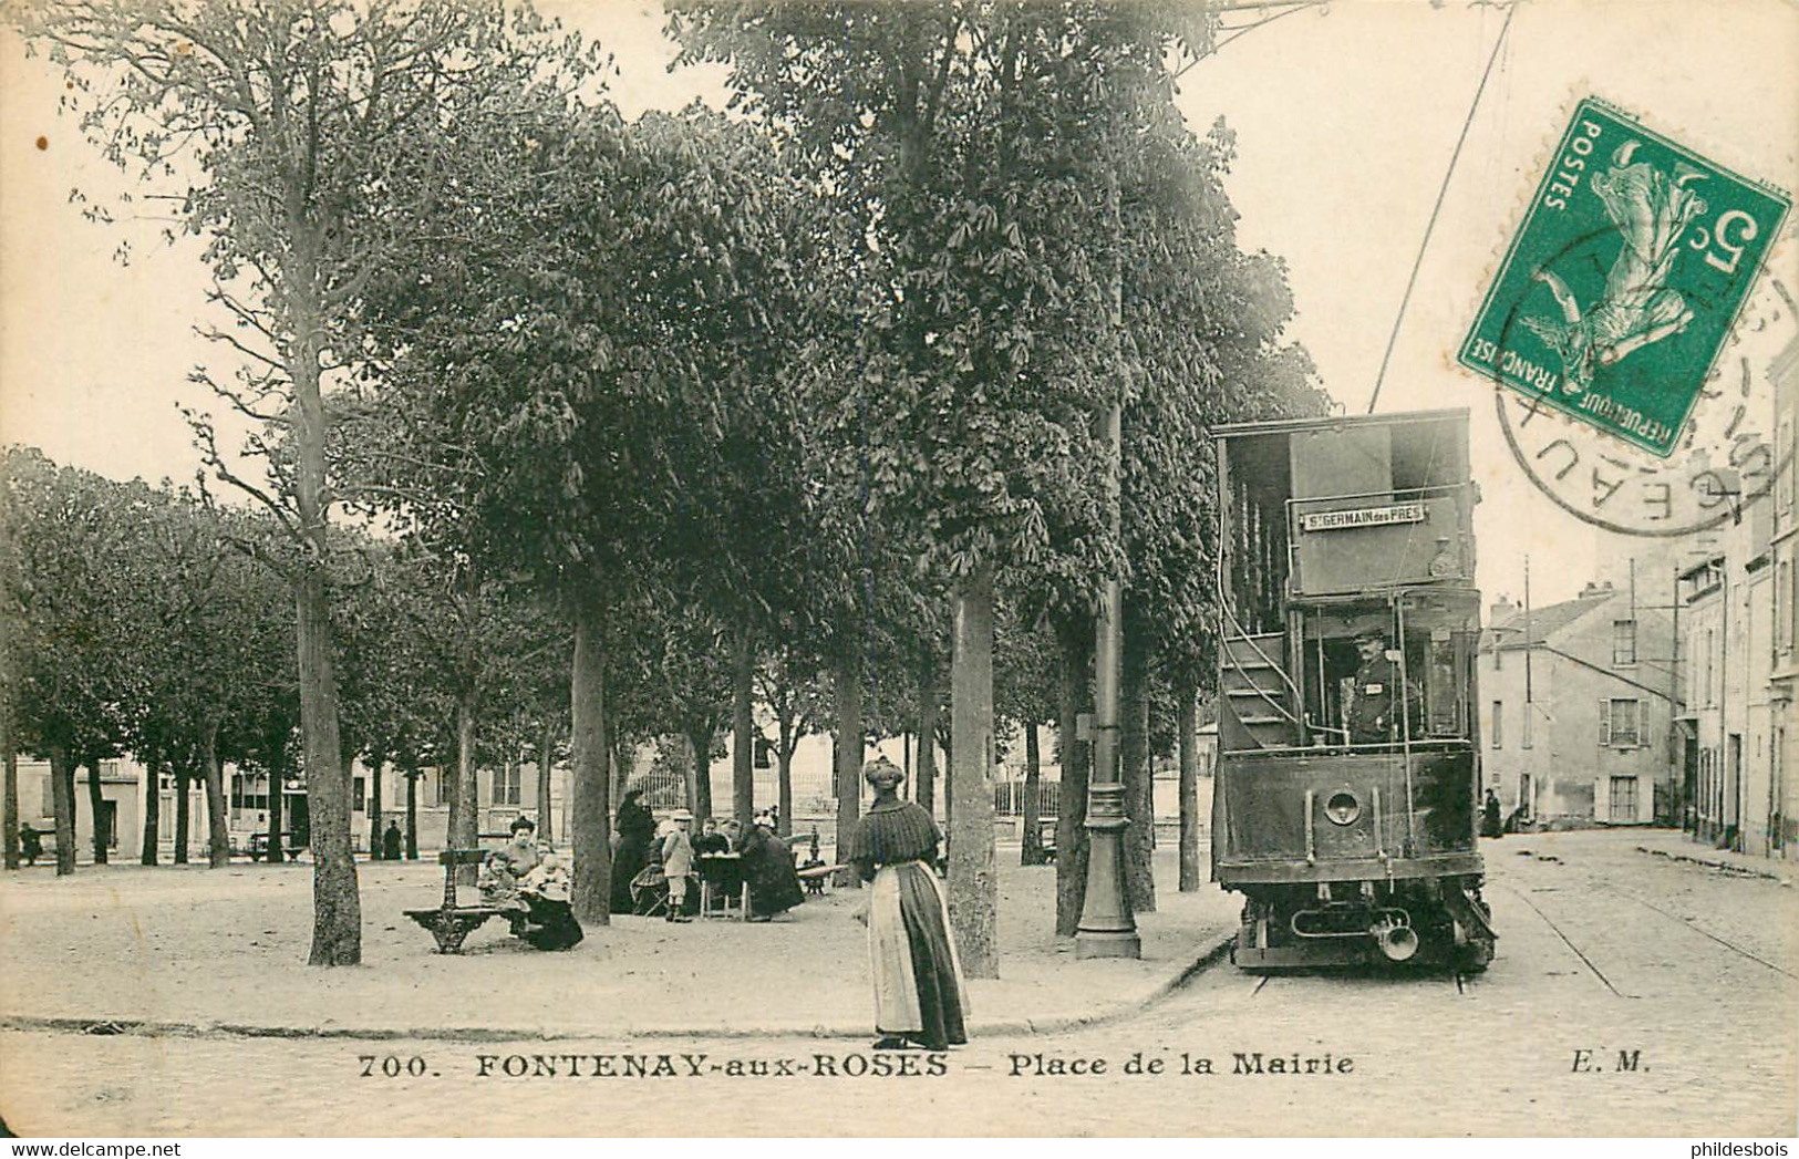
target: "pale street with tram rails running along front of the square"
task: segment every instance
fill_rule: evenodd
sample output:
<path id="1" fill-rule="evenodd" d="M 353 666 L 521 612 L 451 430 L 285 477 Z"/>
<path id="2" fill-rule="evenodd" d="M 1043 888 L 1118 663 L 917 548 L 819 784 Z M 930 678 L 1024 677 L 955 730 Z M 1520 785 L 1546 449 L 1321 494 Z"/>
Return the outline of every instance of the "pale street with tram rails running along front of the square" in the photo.
<path id="1" fill-rule="evenodd" d="M 5 1114 L 20 1132 L 133 1136 L 736 1134 L 752 1119 L 763 1136 L 1794 1132 L 1790 885 L 1646 857 L 1630 833 L 1484 853 L 1502 941 L 1479 977 L 1261 979 L 1218 963 L 1137 1015 L 943 1060 L 876 1062 L 865 1040 L 815 1037 L 13 1031 Z M 1243 1073 L 1256 1055 L 1261 1073 Z"/>

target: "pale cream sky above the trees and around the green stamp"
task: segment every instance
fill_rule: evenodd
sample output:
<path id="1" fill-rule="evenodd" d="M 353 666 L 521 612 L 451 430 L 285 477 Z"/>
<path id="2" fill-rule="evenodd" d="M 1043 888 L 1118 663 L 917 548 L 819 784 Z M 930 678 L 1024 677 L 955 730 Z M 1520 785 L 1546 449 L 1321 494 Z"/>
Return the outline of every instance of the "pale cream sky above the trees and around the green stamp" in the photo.
<path id="1" fill-rule="evenodd" d="M 658 5 L 541 7 L 613 52 L 612 97 L 626 115 L 696 97 L 723 103 L 716 68 L 669 74 L 675 49 Z M 1529 556 L 1542 605 L 1590 580 L 1621 580 L 1630 560 L 1642 574 L 1671 574 L 1677 549 L 1596 533 L 1544 499 L 1506 450 L 1491 385 L 1455 367 L 1455 347 L 1583 95 L 1738 173 L 1799 185 L 1799 7 L 1524 2 L 1470 119 L 1504 20 L 1504 9 L 1466 0 L 1337 0 L 1225 43 L 1182 77 L 1178 101 L 1196 131 L 1216 117 L 1236 131 L 1227 191 L 1240 243 L 1286 261 L 1297 301 L 1290 337 L 1347 414 L 1369 407 L 1443 193 L 1378 409 L 1472 410 L 1481 587 L 1517 599 Z M 162 245 L 166 223 L 148 214 L 113 227 L 81 218 L 70 189 L 117 189 L 121 178 L 58 115 L 61 85 L 47 61 L 0 34 L 0 443 L 38 445 L 121 479 L 187 481 L 198 455 L 176 403 L 210 405 L 187 373 L 228 369 L 192 333 L 209 317 L 198 247 Z M 1788 220 L 1745 313 L 1759 329 L 1745 326 L 1734 353 L 1754 367 L 1795 333 L 1772 290 L 1772 279 L 1799 288 L 1794 234 Z M 121 241 L 130 265 L 115 259 Z"/>

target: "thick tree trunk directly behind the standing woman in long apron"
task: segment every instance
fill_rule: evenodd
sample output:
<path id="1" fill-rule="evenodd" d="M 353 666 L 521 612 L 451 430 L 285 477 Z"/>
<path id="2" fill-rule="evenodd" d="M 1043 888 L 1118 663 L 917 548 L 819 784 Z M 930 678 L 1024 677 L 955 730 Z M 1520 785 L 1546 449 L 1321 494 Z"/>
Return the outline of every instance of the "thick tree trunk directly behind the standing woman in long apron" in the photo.
<path id="1" fill-rule="evenodd" d="M 998 977 L 998 878 L 993 860 L 993 571 L 955 594 L 950 659 L 950 923 L 970 977 Z"/>

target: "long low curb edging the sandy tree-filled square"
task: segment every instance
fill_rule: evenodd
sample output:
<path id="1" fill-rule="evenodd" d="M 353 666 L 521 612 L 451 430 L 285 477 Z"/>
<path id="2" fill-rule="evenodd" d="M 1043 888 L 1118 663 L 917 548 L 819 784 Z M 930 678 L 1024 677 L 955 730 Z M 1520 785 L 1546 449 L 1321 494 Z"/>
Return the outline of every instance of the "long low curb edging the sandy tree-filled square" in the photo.
<path id="1" fill-rule="evenodd" d="M 1211 936 L 1211 938 L 1216 938 Z M 1209 939 L 1211 939 L 1209 938 Z M 1112 1002 L 1105 1010 L 1087 1015 L 1060 1015 L 1051 1019 L 1006 1019 L 975 1020 L 970 1029 L 977 1035 L 1054 1035 L 1090 1026 L 1105 1026 L 1137 1015 L 1155 1006 L 1207 968 L 1225 959 L 1236 932 L 1216 939 L 1211 948 L 1195 961 L 1160 983 L 1148 997 Z M 568 1042 L 595 1038 L 867 1038 L 869 1026 L 856 1022 L 813 1024 L 813 1026 L 732 1026 L 675 1029 L 655 1028 L 619 1028 L 603 1031 L 559 1031 L 559 1029 L 520 1029 L 493 1026 L 419 1026 L 419 1028 L 356 1028 L 356 1026 L 254 1026 L 246 1022 L 171 1022 L 155 1019 L 104 1019 L 104 1017 L 40 1017 L 40 1015 L 0 1015 L 0 1029 L 11 1031 L 49 1031 L 65 1035 L 133 1035 L 140 1038 L 315 1038 L 315 1040 L 367 1040 L 367 1042 Z"/>

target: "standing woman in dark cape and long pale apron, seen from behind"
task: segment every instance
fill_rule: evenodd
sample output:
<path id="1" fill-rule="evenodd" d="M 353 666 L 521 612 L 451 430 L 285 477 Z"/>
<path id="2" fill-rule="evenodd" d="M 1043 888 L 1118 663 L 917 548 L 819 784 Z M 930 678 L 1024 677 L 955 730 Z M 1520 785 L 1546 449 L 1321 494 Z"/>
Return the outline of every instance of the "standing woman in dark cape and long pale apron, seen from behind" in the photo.
<path id="1" fill-rule="evenodd" d="M 885 756 L 862 777 L 874 804 L 849 840 L 849 864 L 869 896 L 869 957 L 874 963 L 874 1049 L 930 1051 L 968 1042 L 968 988 L 950 934 L 950 907 L 937 878 L 937 822 L 900 799 L 905 774 Z"/>

